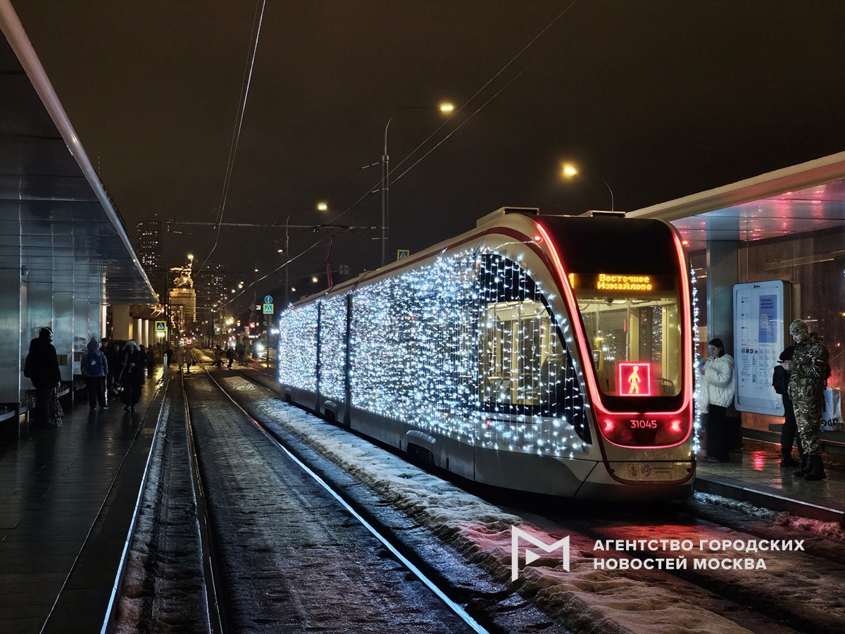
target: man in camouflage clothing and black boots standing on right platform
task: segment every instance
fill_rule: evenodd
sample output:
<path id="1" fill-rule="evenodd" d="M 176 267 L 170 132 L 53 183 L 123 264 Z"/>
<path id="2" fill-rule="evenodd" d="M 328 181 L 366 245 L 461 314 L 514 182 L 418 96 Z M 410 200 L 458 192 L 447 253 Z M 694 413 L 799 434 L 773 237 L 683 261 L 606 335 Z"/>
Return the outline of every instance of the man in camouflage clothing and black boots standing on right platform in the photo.
<path id="1" fill-rule="evenodd" d="M 819 428 L 827 361 L 831 353 L 821 337 L 810 332 L 804 320 L 794 320 L 789 325 L 789 334 L 795 342 L 793 358 L 791 361 L 782 361 L 781 365 L 792 373 L 789 375 L 789 398 L 793 402 L 795 422 L 804 449 L 801 468 L 793 476 L 803 476 L 805 480 L 823 480 L 827 474 L 821 457 Z"/>

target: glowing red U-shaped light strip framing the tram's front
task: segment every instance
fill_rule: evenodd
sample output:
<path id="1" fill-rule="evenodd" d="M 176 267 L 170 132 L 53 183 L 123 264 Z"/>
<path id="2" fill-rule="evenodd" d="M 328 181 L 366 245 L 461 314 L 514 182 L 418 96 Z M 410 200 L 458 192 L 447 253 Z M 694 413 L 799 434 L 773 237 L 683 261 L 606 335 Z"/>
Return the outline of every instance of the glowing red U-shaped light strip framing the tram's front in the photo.
<path id="1" fill-rule="evenodd" d="M 566 271 L 564 269 L 563 263 L 560 261 L 560 257 L 558 255 L 558 249 L 552 241 L 552 238 L 549 236 L 548 232 L 546 231 L 545 227 L 542 226 L 539 222 L 535 223 L 537 226 L 537 231 L 539 232 L 541 238 L 545 240 L 548 244 L 549 252 L 552 256 L 552 261 L 554 263 L 555 270 L 558 273 L 560 278 L 560 287 L 564 292 L 564 300 L 566 302 L 566 306 L 570 312 L 570 321 L 572 322 L 572 326 L 575 329 L 575 338 L 578 343 L 578 348 L 581 352 L 581 360 L 582 366 L 584 371 L 584 376 L 586 377 L 586 384 L 587 390 L 590 392 L 590 400 L 593 405 L 597 408 L 599 413 L 605 414 L 608 416 L 673 416 L 684 412 L 685 409 L 690 407 L 690 399 L 692 395 L 692 335 L 690 333 L 690 323 L 692 320 L 691 317 L 691 308 L 690 308 L 690 285 L 689 281 L 687 280 L 686 270 L 684 269 L 684 265 L 686 263 L 686 257 L 684 256 L 684 248 L 681 246 L 678 234 L 676 232 L 672 232 L 672 237 L 675 243 L 675 249 L 678 252 L 678 259 L 679 265 L 681 267 L 680 270 L 680 279 L 681 279 L 681 305 L 683 306 L 684 311 L 684 323 L 687 324 L 687 327 L 684 328 L 684 351 L 683 351 L 683 363 L 684 368 L 687 369 L 686 375 L 684 377 L 684 402 L 681 407 L 676 410 L 675 412 L 656 412 L 656 413 L 639 413 L 639 412 L 610 412 L 604 405 L 602 404 L 602 396 L 601 391 L 599 391 L 598 386 L 596 385 L 596 376 L 592 369 L 591 363 L 589 363 L 590 351 L 586 347 L 586 336 L 584 334 L 584 330 L 581 327 L 581 312 L 578 310 L 578 304 L 575 302 L 575 295 L 572 292 L 572 288 L 570 287 L 569 277 L 566 275 Z M 537 242 L 540 242 L 537 240 Z M 674 429 L 674 424 L 673 424 Z M 690 425 L 690 433 L 692 430 L 692 425 Z M 686 438 L 689 437 L 689 433 L 684 436 L 684 439 L 679 440 L 678 443 L 674 443 L 678 445 L 681 442 L 684 442 Z M 607 440 L 607 439 L 606 439 Z M 608 442 L 612 442 L 608 440 Z M 615 445 L 615 443 L 613 443 Z"/>

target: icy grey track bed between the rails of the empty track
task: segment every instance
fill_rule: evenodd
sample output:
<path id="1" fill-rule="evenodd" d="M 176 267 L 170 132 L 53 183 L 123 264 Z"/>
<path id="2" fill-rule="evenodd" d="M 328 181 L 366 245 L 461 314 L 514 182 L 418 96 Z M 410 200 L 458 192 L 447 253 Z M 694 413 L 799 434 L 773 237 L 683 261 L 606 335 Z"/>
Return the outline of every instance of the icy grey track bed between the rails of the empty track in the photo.
<path id="1" fill-rule="evenodd" d="M 237 631 L 466 631 L 210 379 L 186 389 Z"/>

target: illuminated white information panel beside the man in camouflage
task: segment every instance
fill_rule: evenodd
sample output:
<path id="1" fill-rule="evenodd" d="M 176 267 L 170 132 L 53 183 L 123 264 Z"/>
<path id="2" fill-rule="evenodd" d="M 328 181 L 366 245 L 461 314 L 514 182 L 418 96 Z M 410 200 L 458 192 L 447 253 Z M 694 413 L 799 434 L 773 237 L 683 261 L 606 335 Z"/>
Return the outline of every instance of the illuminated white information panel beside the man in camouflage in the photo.
<path id="1" fill-rule="evenodd" d="M 771 376 L 786 344 L 784 314 L 789 283 L 781 280 L 733 285 L 733 371 L 740 412 L 783 416 Z"/>

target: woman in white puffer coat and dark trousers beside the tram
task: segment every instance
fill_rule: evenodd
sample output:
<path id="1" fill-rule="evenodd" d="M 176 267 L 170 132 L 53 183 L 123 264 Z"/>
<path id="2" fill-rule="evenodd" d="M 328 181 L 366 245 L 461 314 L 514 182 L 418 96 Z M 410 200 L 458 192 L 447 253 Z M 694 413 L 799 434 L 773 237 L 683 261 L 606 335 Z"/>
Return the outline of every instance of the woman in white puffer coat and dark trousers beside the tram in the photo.
<path id="1" fill-rule="evenodd" d="M 701 369 L 704 374 L 702 390 L 707 400 L 707 462 L 728 462 L 727 410 L 733 403 L 733 357 L 725 354 L 721 339 L 707 344 L 707 363 Z"/>

